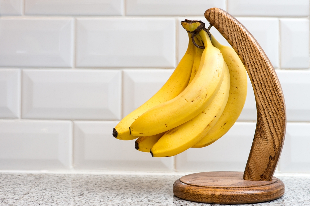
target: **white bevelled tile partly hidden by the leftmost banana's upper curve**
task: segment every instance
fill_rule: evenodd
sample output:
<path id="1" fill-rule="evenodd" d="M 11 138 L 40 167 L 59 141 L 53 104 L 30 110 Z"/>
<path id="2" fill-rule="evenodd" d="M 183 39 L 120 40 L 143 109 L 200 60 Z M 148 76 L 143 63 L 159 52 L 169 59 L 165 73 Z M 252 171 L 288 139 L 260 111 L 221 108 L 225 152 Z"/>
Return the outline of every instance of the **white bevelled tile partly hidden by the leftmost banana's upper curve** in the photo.
<path id="1" fill-rule="evenodd" d="M 140 107 L 169 79 L 173 69 L 126 69 L 123 77 L 123 115 Z"/>

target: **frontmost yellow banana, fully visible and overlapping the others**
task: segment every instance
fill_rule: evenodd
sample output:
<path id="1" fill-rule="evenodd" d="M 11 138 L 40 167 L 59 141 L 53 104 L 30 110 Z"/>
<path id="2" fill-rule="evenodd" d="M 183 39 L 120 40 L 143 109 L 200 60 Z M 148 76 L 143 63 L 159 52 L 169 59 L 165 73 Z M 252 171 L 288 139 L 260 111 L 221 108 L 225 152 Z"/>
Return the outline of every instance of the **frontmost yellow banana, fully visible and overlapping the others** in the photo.
<path id="1" fill-rule="evenodd" d="M 193 119 L 214 99 L 223 81 L 224 59 L 204 30 L 199 35 L 206 48 L 193 81 L 177 97 L 139 116 L 130 125 L 131 135 L 151 136 L 175 128 Z"/>

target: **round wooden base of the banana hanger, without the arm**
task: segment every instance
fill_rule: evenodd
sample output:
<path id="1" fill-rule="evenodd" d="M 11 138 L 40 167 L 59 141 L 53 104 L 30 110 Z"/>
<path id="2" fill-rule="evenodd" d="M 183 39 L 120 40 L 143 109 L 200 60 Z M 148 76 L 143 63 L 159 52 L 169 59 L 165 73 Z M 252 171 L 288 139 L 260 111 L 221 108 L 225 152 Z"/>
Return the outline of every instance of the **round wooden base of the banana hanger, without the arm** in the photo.
<path id="1" fill-rule="evenodd" d="M 173 184 L 175 196 L 194 202 L 243 204 L 275 200 L 284 194 L 284 184 L 243 180 L 243 172 L 201 172 L 181 177 Z"/>

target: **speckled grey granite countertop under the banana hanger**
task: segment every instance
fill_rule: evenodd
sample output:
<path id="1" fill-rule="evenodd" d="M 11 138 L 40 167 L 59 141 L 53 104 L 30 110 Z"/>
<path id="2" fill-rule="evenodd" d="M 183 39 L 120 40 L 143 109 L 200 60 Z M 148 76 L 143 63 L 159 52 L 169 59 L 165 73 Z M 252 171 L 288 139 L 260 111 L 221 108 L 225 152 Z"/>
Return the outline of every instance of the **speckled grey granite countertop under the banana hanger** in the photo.
<path id="1" fill-rule="evenodd" d="M 184 174 L 0 173 L 0 205 L 215 205 L 173 195 Z M 285 194 L 273 201 L 242 205 L 310 205 L 310 175 L 275 175 Z"/>

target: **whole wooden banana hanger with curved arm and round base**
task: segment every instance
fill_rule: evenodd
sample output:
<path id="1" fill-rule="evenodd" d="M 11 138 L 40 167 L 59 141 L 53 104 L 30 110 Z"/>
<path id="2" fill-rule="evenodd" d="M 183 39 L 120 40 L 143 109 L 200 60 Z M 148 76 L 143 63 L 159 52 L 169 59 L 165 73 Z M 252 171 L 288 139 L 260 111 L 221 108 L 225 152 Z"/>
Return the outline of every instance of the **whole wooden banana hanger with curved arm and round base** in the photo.
<path id="1" fill-rule="evenodd" d="M 286 109 L 277 74 L 250 32 L 232 15 L 210 8 L 205 18 L 237 52 L 250 77 L 256 100 L 255 135 L 242 172 L 202 172 L 175 181 L 174 194 L 182 199 L 215 204 L 243 204 L 274 200 L 284 184 L 273 177 L 286 131 Z"/>

